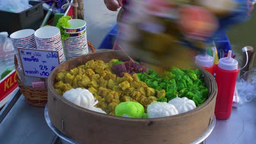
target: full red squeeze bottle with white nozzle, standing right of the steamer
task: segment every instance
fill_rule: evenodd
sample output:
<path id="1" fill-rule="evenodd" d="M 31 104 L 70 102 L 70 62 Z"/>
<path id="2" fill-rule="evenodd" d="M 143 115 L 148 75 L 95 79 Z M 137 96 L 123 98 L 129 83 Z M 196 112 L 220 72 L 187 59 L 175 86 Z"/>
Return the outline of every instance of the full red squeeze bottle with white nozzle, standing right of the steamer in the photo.
<path id="1" fill-rule="evenodd" d="M 218 86 L 215 106 L 215 115 L 217 119 L 228 119 L 231 115 L 236 77 L 238 75 L 237 67 L 238 62 L 231 57 L 231 50 L 228 53 L 228 57 L 219 59 L 215 71 L 215 80 Z"/>

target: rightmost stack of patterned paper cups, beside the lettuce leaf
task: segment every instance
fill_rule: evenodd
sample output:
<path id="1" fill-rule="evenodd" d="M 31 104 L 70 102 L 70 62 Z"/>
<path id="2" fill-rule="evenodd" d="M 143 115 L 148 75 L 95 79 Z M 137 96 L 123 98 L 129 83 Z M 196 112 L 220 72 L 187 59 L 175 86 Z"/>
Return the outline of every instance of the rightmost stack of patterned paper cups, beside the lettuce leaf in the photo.
<path id="1" fill-rule="evenodd" d="M 66 59 L 81 56 L 88 53 L 86 38 L 86 22 L 80 19 L 68 20 L 71 27 L 63 27 L 70 36 L 64 40 Z"/>

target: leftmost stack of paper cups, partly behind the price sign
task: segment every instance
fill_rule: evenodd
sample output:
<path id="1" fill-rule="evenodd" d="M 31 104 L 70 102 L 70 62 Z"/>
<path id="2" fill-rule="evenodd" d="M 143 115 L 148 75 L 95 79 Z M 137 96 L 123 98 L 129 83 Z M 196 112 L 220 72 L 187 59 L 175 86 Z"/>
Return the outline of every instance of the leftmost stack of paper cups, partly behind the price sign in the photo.
<path id="1" fill-rule="evenodd" d="M 34 30 L 23 29 L 14 32 L 10 35 L 10 39 L 14 46 L 14 51 L 18 59 L 19 68 L 22 70 L 18 48 L 37 49 L 36 40 L 34 39 Z"/>

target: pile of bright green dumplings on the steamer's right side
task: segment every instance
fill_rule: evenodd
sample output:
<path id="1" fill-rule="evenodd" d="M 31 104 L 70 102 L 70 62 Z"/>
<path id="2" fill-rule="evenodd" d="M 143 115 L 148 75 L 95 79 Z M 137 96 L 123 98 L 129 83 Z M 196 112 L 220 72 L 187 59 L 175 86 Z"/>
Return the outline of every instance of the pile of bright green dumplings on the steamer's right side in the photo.
<path id="1" fill-rule="evenodd" d="M 149 87 L 156 89 L 157 98 L 160 102 L 167 102 L 177 97 L 187 97 L 195 102 L 196 106 L 202 105 L 208 98 L 208 88 L 206 88 L 202 73 L 199 69 L 182 70 L 171 68 L 165 71 L 163 76 L 155 71 L 137 74 L 139 80 L 145 82 Z"/>

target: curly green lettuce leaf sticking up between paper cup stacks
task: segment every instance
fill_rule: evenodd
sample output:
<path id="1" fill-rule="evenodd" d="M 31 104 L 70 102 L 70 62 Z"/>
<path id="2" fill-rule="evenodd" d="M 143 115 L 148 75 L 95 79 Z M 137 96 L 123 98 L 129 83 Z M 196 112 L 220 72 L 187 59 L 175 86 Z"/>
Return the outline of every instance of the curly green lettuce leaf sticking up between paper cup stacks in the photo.
<path id="1" fill-rule="evenodd" d="M 61 39 L 66 40 L 70 35 L 66 33 L 63 29 L 63 27 L 69 28 L 71 27 L 68 20 L 71 19 L 71 16 L 62 16 L 59 21 L 57 22 L 56 27 L 60 29 L 61 32 Z"/>

